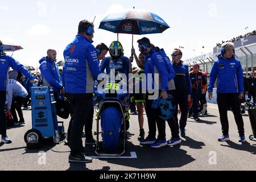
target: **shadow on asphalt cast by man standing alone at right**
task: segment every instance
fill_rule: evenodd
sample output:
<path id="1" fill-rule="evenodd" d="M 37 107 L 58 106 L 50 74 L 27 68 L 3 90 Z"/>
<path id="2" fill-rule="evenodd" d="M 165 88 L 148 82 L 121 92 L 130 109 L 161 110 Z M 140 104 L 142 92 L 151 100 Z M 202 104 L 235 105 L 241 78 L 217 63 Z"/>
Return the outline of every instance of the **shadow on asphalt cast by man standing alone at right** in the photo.
<path id="1" fill-rule="evenodd" d="M 251 146 L 249 142 L 243 142 L 241 144 L 237 144 L 232 141 L 227 141 L 226 143 L 227 145 L 221 144 L 221 146 L 230 147 L 230 148 L 241 150 L 241 151 L 247 151 L 247 152 L 250 152 L 251 154 L 256 154 L 256 148 L 255 148 L 256 145 Z"/>

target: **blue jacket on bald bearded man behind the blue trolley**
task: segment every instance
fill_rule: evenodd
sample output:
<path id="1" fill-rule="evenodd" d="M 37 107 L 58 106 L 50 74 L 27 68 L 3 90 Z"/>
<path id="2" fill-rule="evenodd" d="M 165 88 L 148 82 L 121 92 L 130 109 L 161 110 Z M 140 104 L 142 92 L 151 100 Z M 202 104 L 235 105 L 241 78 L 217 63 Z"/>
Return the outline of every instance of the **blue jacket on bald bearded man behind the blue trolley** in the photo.
<path id="1" fill-rule="evenodd" d="M 54 92 L 59 92 L 63 88 L 59 68 L 48 57 L 43 57 L 40 61 L 40 71 L 43 78 L 43 86 L 52 86 Z"/>

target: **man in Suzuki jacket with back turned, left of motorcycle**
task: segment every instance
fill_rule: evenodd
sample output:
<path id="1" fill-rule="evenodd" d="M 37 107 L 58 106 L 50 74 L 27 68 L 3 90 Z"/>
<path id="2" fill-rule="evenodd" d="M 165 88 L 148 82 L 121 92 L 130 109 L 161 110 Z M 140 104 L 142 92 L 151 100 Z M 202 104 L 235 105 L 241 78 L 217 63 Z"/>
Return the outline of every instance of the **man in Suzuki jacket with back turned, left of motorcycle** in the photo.
<path id="1" fill-rule="evenodd" d="M 101 73 L 96 49 L 92 45 L 93 27 L 93 23 L 88 20 L 81 20 L 75 40 L 64 50 L 65 92 L 73 114 L 69 162 L 92 162 L 92 158 L 83 155 L 81 138 L 82 130 L 90 122 L 90 113 L 93 110 L 94 80 Z"/>

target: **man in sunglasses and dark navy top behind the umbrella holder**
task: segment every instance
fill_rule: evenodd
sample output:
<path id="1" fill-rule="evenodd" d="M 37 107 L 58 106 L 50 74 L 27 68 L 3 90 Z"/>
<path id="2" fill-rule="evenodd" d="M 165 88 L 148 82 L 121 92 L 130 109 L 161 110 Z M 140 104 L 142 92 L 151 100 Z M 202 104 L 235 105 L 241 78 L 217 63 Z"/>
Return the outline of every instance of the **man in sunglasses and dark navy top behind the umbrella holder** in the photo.
<path id="1" fill-rule="evenodd" d="M 191 81 L 188 72 L 188 65 L 181 61 L 182 52 L 180 49 L 174 49 L 172 52 L 172 67 L 175 71 L 175 105 L 176 110 L 174 117 L 176 121 L 178 105 L 180 106 L 181 116 L 180 116 L 180 135 L 185 136 L 185 127 L 187 125 L 188 118 L 188 101 L 191 98 Z"/>

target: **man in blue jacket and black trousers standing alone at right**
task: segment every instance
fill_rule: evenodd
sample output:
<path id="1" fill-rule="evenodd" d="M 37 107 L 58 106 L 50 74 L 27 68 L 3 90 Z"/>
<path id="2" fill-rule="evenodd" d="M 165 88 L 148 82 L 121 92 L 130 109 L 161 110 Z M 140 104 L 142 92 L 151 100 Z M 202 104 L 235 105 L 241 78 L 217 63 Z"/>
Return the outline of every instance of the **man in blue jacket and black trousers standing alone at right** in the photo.
<path id="1" fill-rule="evenodd" d="M 234 55 L 234 44 L 231 42 L 222 44 L 221 54 L 218 55 L 218 59 L 213 63 L 208 86 L 210 100 L 212 100 L 212 90 L 217 77 L 217 103 L 223 134 L 218 140 L 220 142 L 229 140 L 227 108 L 230 105 L 238 127 L 238 141 L 245 142 L 245 130 L 239 101 L 239 98 L 244 97 L 243 71 L 240 60 L 236 59 Z"/>

